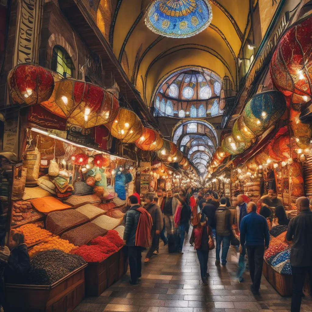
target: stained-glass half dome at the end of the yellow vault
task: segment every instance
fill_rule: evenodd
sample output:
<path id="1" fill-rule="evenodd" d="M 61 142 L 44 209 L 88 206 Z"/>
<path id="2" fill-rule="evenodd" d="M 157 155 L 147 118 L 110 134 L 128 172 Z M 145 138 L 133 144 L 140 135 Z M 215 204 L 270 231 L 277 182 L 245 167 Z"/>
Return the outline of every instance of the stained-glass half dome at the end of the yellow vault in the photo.
<path id="1" fill-rule="evenodd" d="M 159 86 L 154 99 L 154 116 L 206 118 L 222 115 L 219 109 L 221 88 L 222 80 L 213 72 L 178 72 Z"/>

